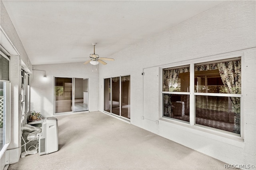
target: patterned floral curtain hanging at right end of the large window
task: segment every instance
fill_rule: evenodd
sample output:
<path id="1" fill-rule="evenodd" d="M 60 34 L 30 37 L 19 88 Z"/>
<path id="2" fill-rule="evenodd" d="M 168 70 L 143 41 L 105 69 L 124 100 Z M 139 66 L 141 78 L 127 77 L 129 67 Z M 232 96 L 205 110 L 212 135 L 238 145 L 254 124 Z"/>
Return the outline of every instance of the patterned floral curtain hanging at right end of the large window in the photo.
<path id="1" fill-rule="evenodd" d="M 241 61 L 218 63 L 220 76 L 229 94 L 241 94 Z M 234 105 L 234 133 L 240 134 L 240 98 L 230 97 Z"/>

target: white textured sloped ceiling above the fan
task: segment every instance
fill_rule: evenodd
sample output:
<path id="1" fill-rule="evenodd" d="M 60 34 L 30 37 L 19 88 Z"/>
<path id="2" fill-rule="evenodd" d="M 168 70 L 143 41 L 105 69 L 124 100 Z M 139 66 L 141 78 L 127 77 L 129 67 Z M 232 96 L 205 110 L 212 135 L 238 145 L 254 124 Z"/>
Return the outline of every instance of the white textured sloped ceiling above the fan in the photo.
<path id="1" fill-rule="evenodd" d="M 114 53 L 222 1 L 3 0 L 33 65 L 74 63 Z"/>

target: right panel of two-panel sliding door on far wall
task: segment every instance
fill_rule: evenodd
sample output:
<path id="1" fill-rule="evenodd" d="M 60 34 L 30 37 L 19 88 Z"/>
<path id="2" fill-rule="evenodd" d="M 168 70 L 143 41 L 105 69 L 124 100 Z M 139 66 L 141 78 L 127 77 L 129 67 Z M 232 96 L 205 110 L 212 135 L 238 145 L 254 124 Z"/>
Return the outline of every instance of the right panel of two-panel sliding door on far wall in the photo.
<path id="1" fill-rule="evenodd" d="M 74 78 L 74 112 L 88 110 L 88 79 Z"/>

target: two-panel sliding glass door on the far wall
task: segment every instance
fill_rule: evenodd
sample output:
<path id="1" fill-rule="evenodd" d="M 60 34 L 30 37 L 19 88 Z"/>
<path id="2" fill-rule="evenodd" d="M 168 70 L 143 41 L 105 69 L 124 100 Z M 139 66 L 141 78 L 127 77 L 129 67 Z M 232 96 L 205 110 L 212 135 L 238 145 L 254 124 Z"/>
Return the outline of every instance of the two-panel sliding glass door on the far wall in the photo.
<path id="1" fill-rule="evenodd" d="M 55 77 L 55 113 L 88 110 L 88 79 Z"/>

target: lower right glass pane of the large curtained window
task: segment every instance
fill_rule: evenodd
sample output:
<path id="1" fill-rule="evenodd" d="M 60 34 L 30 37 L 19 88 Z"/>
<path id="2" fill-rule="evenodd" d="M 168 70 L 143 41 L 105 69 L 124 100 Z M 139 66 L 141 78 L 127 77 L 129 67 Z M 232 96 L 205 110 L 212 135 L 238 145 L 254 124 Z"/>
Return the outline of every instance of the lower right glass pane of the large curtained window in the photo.
<path id="1" fill-rule="evenodd" d="M 240 98 L 196 96 L 196 124 L 240 134 Z"/>

